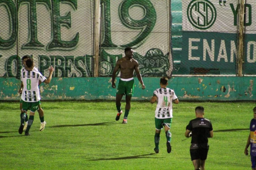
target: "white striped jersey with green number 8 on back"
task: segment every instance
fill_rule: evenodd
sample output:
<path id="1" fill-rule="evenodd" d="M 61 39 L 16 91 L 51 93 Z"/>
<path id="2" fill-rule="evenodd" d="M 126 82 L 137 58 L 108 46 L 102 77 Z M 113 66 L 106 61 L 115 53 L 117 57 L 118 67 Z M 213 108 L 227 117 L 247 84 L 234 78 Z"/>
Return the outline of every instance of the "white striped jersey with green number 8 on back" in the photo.
<path id="1" fill-rule="evenodd" d="M 20 79 L 23 82 L 24 88 L 22 91 L 21 99 L 25 102 L 38 102 L 40 98 L 38 82 L 44 82 L 44 77 L 40 72 L 27 71 L 23 69 L 20 73 Z"/>

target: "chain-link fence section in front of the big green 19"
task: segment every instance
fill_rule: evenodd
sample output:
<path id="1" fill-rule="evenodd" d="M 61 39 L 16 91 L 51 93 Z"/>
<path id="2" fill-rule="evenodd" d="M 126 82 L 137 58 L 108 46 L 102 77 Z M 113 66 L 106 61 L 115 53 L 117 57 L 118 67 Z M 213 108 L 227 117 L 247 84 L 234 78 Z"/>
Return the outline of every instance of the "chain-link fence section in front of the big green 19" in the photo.
<path id="1" fill-rule="evenodd" d="M 100 76 L 133 47 L 143 77 L 169 75 L 169 0 L 102 0 Z M 118 74 L 120 76 L 120 74 Z"/>

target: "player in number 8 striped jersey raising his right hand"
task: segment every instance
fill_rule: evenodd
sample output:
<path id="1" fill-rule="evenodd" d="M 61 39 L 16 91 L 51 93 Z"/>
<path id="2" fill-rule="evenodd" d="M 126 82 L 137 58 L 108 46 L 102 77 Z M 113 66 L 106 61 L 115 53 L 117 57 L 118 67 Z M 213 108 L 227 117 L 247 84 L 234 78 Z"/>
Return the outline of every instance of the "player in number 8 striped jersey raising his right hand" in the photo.
<path id="1" fill-rule="evenodd" d="M 40 72 L 35 72 L 33 70 L 34 67 L 34 62 L 32 59 L 28 59 L 26 61 L 26 66 L 21 72 L 20 77 L 21 81 L 24 85 L 22 95 L 21 95 L 21 100 L 23 100 L 22 104 L 22 110 L 24 112 L 27 112 L 27 110 L 30 110 L 30 116 L 28 118 L 28 125 L 27 129 L 25 131 L 25 135 L 30 135 L 29 130 L 31 128 L 31 125 L 34 121 L 34 114 L 35 111 L 38 110 L 40 103 L 40 94 L 39 94 L 39 88 L 38 88 L 38 82 L 39 80 L 41 82 L 44 82 L 46 84 L 49 84 L 52 79 L 52 73 L 54 71 L 54 68 L 51 66 L 49 68 L 50 75 L 46 79 Z M 40 119 L 44 119 L 44 117 L 40 117 Z M 20 128 L 19 128 L 19 134 L 23 133 L 23 128 L 24 128 L 24 121 L 25 121 L 25 113 L 20 114 Z M 41 120 L 41 122 L 44 122 L 44 120 Z M 44 128 L 45 124 L 41 124 Z M 40 127 L 41 128 L 41 127 Z"/>

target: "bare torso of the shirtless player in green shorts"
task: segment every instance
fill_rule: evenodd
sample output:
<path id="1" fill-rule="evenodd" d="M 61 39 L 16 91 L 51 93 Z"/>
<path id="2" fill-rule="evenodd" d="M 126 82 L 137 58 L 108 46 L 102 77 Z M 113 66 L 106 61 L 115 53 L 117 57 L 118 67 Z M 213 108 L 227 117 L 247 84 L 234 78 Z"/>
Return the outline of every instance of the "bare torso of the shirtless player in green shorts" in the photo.
<path id="1" fill-rule="evenodd" d="M 133 71 L 135 69 L 137 61 L 134 59 L 127 60 L 126 57 L 123 57 L 119 60 L 120 62 L 120 77 L 122 79 L 129 79 L 133 77 Z"/>

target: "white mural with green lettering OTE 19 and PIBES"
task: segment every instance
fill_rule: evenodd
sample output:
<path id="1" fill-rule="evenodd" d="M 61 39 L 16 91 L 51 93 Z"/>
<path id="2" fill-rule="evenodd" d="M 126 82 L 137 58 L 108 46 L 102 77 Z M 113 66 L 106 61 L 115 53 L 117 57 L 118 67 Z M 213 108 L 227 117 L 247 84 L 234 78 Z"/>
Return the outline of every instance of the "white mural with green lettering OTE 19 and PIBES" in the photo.
<path id="1" fill-rule="evenodd" d="M 53 77 L 92 76 L 94 0 L 15 3 L 0 0 L 0 77 L 19 75 L 24 55 L 45 76 L 51 65 Z M 111 76 L 128 46 L 136 50 L 142 76 L 166 75 L 167 8 L 166 0 L 102 0 L 99 75 Z"/>

